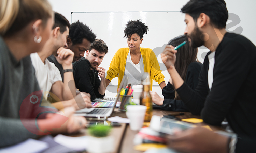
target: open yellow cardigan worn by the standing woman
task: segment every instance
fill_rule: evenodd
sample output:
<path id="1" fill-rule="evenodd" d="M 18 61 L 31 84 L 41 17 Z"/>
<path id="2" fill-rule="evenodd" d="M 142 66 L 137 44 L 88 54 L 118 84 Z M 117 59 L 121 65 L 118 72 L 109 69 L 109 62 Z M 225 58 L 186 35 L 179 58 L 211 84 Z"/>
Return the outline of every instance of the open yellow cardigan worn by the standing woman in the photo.
<path id="1" fill-rule="evenodd" d="M 120 48 L 114 55 L 109 70 L 107 71 L 106 79 L 110 81 L 118 76 L 118 87 L 125 74 L 126 58 L 129 53 L 129 48 Z M 165 81 L 165 76 L 162 74 L 155 53 L 150 48 L 141 48 L 140 52 L 143 58 L 144 71 L 150 73 L 150 90 L 152 90 L 152 78 L 160 84 Z M 118 75 L 119 74 L 119 75 Z"/>

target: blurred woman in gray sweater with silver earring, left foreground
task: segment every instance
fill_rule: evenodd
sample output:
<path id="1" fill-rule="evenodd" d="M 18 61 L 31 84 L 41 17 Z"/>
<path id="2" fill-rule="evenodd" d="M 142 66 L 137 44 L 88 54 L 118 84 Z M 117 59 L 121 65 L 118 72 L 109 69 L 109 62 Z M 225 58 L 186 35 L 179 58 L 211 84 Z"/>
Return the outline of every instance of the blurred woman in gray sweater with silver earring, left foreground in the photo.
<path id="1" fill-rule="evenodd" d="M 42 92 L 38 97 L 33 95 L 40 88 L 29 55 L 40 51 L 50 36 L 51 5 L 47 0 L 0 0 L 0 10 L 0 147 L 52 130 L 59 133 L 84 128 L 86 120 L 73 117 L 73 107 L 65 109 L 66 117 L 43 113 L 56 109 L 45 100 L 41 102 Z M 29 102 L 30 95 L 33 99 L 31 96 Z"/>

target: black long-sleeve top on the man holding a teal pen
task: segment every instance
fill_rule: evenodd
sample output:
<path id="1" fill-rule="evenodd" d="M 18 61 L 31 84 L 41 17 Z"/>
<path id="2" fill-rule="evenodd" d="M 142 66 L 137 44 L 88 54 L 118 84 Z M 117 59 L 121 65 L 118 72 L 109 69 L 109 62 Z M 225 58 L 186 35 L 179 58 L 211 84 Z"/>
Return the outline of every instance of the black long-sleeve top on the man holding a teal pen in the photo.
<path id="1" fill-rule="evenodd" d="M 246 137 L 237 143 L 236 150 L 243 152 L 245 143 L 253 146 L 256 140 L 256 47 L 244 36 L 226 33 L 215 52 L 211 90 L 207 56 L 195 90 L 184 83 L 176 91 L 193 114 L 201 114 L 205 123 L 221 125 L 227 118 L 233 131 Z"/>

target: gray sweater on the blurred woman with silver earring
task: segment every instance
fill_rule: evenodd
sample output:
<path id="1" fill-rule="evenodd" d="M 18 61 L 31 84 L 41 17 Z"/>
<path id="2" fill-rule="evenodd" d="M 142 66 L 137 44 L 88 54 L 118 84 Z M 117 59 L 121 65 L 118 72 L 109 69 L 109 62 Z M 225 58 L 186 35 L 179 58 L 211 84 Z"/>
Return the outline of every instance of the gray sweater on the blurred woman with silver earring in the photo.
<path id="1" fill-rule="evenodd" d="M 41 108 L 28 105 L 20 112 L 20 106 L 29 94 L 39 90 L 30 56 L 17 61 L 0 36 L 0 147 L 37 137 L 33 134 L 37 129 L 32 128 L 35 126 L 32 114 Z M 20 113 L 27 120 L 22 122 Z"/>

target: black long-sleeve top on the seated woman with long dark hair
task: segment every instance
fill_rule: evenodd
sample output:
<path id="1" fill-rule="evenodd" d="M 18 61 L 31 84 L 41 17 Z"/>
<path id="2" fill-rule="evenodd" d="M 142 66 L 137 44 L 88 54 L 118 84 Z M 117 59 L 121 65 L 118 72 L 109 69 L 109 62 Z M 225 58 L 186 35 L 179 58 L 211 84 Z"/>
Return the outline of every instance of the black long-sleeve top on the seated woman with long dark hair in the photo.
<path id="1" fill-rule="evenodd" d="M 198 76 L 202 68 L 202 63 L 192 62 L 188 65 L 185 82 L 191 89 L 195 89 L 198 84 Z M 175 91 L 172 84 L 168 81 L 167 86 L 163 87 L 162 94 L 165 98 L 161 109 L 167 111 L 184 111 L 189 112 L 189 109 L 182 100 L 176 100 Z"/>

